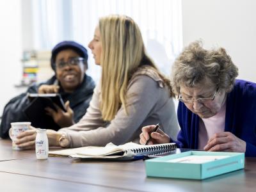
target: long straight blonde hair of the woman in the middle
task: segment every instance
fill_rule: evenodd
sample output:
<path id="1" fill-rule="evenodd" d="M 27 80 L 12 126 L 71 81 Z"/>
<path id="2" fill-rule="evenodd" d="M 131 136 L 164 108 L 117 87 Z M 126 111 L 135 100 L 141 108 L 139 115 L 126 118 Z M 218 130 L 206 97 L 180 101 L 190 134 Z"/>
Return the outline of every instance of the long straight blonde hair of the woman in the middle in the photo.
<path id="1" fill-rule="evenodd" d="M 102 42 L 101 102 L 102 117 L 113 120 L 120 106 L 127 113 L 127 85 L 132 74 L 141 65 L 156 68 L 145 53 L 138 25 L 125 15 L 109 15 L 99 20 Z"/>

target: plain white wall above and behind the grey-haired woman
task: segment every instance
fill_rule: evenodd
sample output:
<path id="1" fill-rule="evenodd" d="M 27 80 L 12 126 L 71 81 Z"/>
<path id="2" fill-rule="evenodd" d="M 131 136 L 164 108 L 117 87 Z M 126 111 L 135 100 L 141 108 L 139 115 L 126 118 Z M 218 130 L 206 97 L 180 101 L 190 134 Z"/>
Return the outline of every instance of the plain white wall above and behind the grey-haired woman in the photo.
<path id="1" fill-rule="evenodd" d="M 256 82 L 256 1 L 182 0 L 183 44 L 202 38 L 227 49 L 239 78 Z"/>

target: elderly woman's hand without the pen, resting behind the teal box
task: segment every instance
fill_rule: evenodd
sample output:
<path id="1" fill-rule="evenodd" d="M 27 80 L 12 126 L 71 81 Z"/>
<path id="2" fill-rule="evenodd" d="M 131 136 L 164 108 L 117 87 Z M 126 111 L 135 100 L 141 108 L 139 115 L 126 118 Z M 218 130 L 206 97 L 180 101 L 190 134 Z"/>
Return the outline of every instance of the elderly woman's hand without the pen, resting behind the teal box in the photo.
<path id="1" fill-rule="evenodd" d="M 246 142 L 237 138 L 231 132 L 220 132 L 214 134 L 204 150 L 207 151 L 225 151 L 225 152 L 245 152 Z"/>

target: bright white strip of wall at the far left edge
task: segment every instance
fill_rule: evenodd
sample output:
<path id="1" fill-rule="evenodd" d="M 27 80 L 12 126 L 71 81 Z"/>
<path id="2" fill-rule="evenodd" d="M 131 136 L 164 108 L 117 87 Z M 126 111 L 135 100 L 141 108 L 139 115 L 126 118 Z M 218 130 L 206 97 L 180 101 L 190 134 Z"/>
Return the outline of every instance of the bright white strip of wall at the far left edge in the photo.
<path id="1" fill-rule="evenodd" d="M 20 90 L 14 88 L 22 77 L 20 1 L 0 1 L 0 113 L 6 102 Z M 1 116 L 0 114 L 0 116 Z"/>

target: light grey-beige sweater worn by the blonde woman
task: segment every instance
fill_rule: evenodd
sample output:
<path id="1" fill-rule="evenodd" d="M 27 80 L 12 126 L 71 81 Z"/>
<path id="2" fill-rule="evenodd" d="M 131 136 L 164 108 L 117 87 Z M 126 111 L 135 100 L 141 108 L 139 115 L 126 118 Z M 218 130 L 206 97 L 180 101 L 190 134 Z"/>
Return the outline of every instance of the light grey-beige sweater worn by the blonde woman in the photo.
<path id="1" fill-rule="evenodd" d="M 138 143 L 141 128 L 157 123 L 168 136 L 177 137 L 179 125 L 173 100 L 161 77 L 151 67 L 139 68 L 129 81 L 128 115 L 121 106 L 111 122 L 102 120 L 100 91 L 98 84 L 86 114 L 77 124 L 59 130 L 67 134 L 70 141 L 67 147 L 105 146 L 109 142 L 115 145 L 128 141 Z"/>

